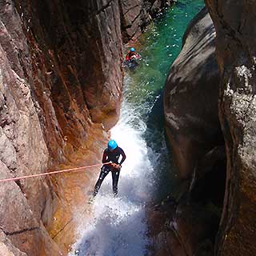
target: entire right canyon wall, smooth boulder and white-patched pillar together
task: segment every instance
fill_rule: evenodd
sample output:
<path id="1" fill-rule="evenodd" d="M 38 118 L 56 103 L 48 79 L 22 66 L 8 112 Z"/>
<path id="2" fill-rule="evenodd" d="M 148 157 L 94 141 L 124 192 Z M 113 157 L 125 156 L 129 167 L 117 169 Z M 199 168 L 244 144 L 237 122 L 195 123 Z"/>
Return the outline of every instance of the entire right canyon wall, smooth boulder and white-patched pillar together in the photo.
<path id="1" fill-rule="evenodd" d="M 166 80 L 166 132 L 186 186 L 150 215 L 155 255 L 256 252 L 256 2 L 206 5 L 214 27 L 206 10 L 194 18 Z"/>

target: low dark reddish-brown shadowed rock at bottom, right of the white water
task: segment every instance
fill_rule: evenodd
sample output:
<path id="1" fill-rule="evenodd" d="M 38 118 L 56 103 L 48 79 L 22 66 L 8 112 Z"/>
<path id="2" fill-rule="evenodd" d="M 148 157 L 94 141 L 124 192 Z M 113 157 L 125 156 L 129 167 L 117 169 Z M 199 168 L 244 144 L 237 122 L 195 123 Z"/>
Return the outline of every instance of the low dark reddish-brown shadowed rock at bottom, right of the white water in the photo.
<path id="1" fill-rule="evenodd" d="M 150 210 L 154 256 L 212 256 L 218 216 L 198 204 L 170 200 Z"/>

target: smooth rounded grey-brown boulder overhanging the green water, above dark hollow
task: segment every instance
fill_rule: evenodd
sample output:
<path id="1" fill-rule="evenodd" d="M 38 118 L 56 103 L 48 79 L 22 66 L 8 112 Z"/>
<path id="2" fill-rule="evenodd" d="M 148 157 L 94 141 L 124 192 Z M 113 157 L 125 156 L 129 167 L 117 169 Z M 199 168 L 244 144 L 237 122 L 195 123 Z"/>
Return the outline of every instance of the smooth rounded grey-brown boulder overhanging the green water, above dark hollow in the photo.
<path id="1" fill-rule="evenodd" d="M 190 178 L 201 158 L 223 144 L 218 82 L 215 30 L 204 9 L 186 30 L 164 91 L 166 132 L 181 178 Z"/>

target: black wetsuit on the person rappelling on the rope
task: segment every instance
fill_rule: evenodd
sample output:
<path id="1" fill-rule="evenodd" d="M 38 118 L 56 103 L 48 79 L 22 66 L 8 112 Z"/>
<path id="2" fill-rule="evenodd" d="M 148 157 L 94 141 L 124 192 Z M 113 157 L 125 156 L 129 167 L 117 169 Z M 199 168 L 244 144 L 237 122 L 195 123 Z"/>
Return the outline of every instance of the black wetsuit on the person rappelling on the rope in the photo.
<path id="1" fill-rule="evenodd" d="M 122 155 L 122 160 L 118 162 L 120 155 Z M 122 162 L 124 162 L 125 159 L 126 159 L 126 154 L 124 153 L 121 147 L 118 146 L 115 150 L 112 150 L 112 151 L 106 148 L 102 156 L 102 163 L 104 164 L 104 162 L 114 162 L 116 164 L 122 165 Z M 120 169 L 114 168 L 114 166 L 111 166 L 110 164 L 106 164 L 102 166 L 98 181 L 94 187 L 94 196 L 98 194 L 98 190 L 102 186 L 102 182 L 104 178 L 106 178 L 106 175 L 110 171 L 112 173 L 113 194 L 114 195 L 118 194 L 118 179 L 119 179 Z"/>

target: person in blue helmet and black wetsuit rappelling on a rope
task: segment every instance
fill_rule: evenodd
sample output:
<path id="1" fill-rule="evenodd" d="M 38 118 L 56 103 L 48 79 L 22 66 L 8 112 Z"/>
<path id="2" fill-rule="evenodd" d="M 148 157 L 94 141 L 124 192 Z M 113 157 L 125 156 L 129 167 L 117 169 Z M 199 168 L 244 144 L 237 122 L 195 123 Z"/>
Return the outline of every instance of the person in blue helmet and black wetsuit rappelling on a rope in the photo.
<path id="1" fill-rule="evenodd" d="M 122 156 L 121 160 L 119 159 L 120 156 Z M 111 139 L 108 142 L 107 148 L 104 150 L 102 155 L 103 166 L 101 168 L 98 181 L 94 186 L 94 194 L 93 194 L 94 197 L 98 194 L 98 190 L 100 189 L 104 178 L 106 178 L 106 175 L 109 174 L 109 172 L 111 172 L 112 174 L 113 194 L 114 196 L 117 196 L 119 174 L 122 167 L 122 163 L 125 160 L 126 160 L 126 154 L 124 153 L 122 148 L 118 146 L 117 142 Z"/>

